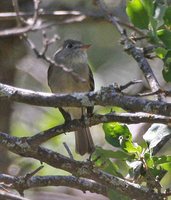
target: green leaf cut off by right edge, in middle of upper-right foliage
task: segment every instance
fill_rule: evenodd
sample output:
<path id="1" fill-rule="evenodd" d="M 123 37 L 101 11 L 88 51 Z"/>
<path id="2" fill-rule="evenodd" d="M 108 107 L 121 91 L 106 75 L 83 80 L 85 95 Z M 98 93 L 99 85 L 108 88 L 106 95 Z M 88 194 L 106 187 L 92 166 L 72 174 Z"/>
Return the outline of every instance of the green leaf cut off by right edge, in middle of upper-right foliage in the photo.
<path id="1" fill-rule="evenodd" d="M 160 29 L 157 31 L 157 36 L 168 49 L 171 49 L 171 31 L 170 30 Z"/>

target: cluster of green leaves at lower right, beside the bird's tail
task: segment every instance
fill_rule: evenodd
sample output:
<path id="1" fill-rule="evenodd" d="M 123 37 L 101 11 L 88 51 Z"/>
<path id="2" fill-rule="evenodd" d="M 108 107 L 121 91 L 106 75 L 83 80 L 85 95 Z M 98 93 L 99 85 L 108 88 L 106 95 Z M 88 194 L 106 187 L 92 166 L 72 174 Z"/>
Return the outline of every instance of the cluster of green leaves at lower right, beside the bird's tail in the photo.
<path id="1" fill-rule="evenodd" d="M 97 147 L 93 154 L 94 158 L 98 158 L 96 166 L 112 175 L 145 183 L 151 189 L 160 189 L 156 180 L 161 180 L 167 171 L 171 171 L 171 156 L 154 156 L 153 149 L 163 137 L 171 133 L 170 128 L 162 124 L 155 125 L 144 135 L 145 144 L 142 145 L 133 142 L 132 134 L 125 124 L 104 123 L 103 130 L 106 141 L 114 149 Z M 120 166 L 127 166 L 126 176 Z M 109 193 L 112 199 L 114 196 L 111 190 Z"/>

